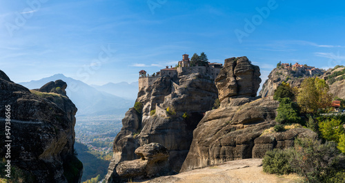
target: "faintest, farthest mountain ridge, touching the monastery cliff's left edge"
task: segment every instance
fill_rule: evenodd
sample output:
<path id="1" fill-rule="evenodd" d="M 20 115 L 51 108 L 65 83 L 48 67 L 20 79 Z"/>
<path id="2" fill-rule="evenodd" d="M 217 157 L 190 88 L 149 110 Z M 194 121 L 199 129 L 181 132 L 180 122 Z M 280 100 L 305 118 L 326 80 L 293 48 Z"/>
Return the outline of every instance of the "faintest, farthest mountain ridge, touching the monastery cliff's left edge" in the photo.
<path id="1" fill-rule="evenodd" d="M 139 84 L 138 82 L 127 83 L 108 83 L 106 85 L 91 85 L 98 89 L 101 92 L 107 92 L 108 94 L 112 94 L 115 96 L 120 96 L 123 98 L 128 98 L 130 100 L 137 99 Z"/>

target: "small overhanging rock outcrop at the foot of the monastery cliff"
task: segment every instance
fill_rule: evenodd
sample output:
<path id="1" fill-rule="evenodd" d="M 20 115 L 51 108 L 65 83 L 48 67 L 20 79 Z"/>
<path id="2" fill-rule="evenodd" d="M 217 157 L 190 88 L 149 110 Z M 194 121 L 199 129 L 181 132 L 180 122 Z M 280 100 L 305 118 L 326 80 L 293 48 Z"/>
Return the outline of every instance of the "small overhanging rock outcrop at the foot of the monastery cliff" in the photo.
<path id="1" fill-rule="evenodd" d="M 135 153 L 141 158 L 120 162 L 117 165 L 116 171 L 120 180 L 148 179 L 173 173 L 168 161 L 168 149 L 161 144 L 145 144 L 135 150 Z"/>

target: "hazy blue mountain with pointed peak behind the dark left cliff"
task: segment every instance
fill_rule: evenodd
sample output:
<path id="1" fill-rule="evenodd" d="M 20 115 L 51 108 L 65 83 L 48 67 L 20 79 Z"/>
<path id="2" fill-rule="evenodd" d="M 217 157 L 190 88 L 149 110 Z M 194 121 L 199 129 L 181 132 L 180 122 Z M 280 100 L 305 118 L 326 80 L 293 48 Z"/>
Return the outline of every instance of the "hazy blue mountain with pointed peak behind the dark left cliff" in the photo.
<path id="1" fill-rule="evenodd" d="M 29 89 L 39 89 L 46 83 L 55 80 L 63 80 L 67 83 L 67 96 L 72 100 L 78 108 L 77 116 L 124 116 L 128 108 L 134 105 L 135 99 L 115 96 L 107 92 L 101 92 L 81 80 L 75 80 L 64 76 L 63 74 L 55 74 L 48 78 L 40 80 L 32 80 L 30 82 L 19 83 Z M 116 84 L 115 84 L 116 85 Z M 128 84 L 129 85 L 129 84 Z M 105 85 L 103 85 L 105 86 Z M 99 86 L 99 87 L 103 87 Z M 133 88 L 134 89 L 134 88 Z M 127 93 L 131 92 L 128 89 Z M 135 92 L 137 92 L 136 88 Z M 115 88 L 113 88 L 115 91 Z M 115 92 L 114 92 L 115 93 Z"/>

